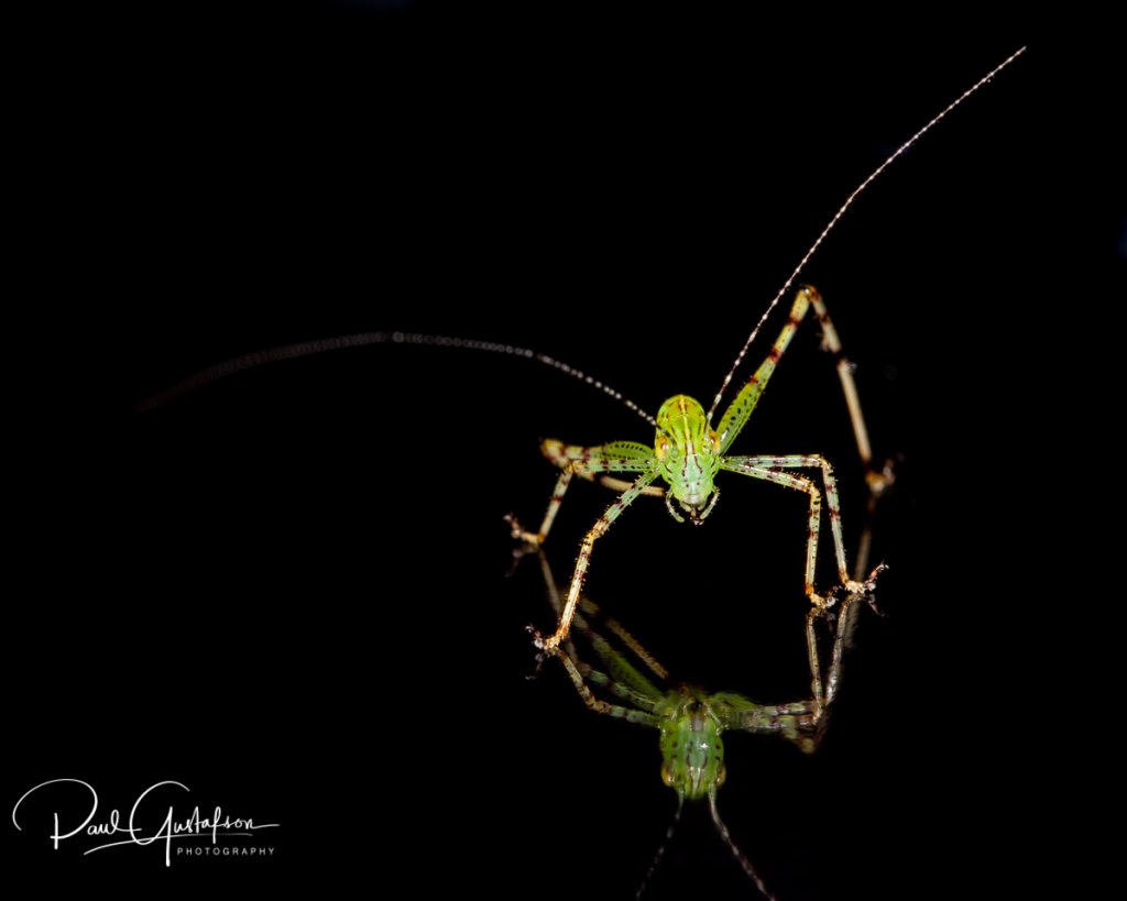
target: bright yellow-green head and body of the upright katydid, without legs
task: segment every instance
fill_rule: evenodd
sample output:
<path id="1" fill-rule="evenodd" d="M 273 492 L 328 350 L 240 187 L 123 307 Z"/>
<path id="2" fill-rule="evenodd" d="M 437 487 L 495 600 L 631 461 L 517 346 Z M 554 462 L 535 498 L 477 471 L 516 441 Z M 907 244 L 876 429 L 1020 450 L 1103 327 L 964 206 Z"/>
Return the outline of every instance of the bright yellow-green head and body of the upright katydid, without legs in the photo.
<path id="1" fill-rule="evenodd" d="M 720 469 L 720 440 L 700 402 L 676 394 L 662 404 L 654 453 L 673 497 L 690 518 L 703 519 Z"/>

